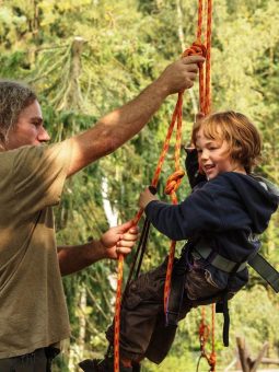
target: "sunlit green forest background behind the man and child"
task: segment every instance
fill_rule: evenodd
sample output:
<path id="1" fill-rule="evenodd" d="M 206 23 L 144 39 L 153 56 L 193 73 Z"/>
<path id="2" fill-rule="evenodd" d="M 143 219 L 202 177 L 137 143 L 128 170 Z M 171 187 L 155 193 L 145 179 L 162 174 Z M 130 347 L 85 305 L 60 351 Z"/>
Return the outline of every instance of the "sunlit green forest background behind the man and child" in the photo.
<path id="1" fill-rule="evenodd" d="M 197 26 L 196 0 L 7 0 L 0 4 L 0 77 L 25 81 L 37 91 L 54 141 L 91 127 L 135 97 L 179 58 L 195 40 Z M 216 0 L 212 34 L 213 109 L 239 111 L 254 120 L 264 140 L 263 163 L 256 171 L 277 184 L 278 7 L 278 0 Z M 197 85 L 185 93 L 184 143 L 189 139 L 197 96 Z M 56 208 L 58 243 L 97 239 L 109 224 L 135 216 L 139 193 L 152 178 L 174 104 L 175 96 L 168 97 L 138 136 L 68 181 Z M 174 168 L 172 151 L 173 143 L 160 181 L 164 199 L 164 182 Z M 188 191 L 184 181 L 179 199 Z M 278 222 L 277 213 L 263 236 L 263 252 L 277 268 Z M 167 249 L 167 240 L 152 231 L 143 269 L 158 265 Z M 101 261 L 63 278 L 72 337 L 56 361 L 56 371 L 78 371 L 78 361 L 106 351 L 104 330 L 114 314 L 116 266 Z M 254 353 L 267 340 L 268 356 L 278 358 L 278 297 L 255 272 L 231 302 L 230 348 L 222 346 L 222 316 L 217 317 L 218 371 L 234 360 L 237 335 L 246 338 Z M 193 311 L 182 322 L 167 359 L 160 367 L 144 362 L 143 371 L 195 371 L 199 321 L 200 312 Z M 208 371 L 206 363 L 200 371 Z"/>

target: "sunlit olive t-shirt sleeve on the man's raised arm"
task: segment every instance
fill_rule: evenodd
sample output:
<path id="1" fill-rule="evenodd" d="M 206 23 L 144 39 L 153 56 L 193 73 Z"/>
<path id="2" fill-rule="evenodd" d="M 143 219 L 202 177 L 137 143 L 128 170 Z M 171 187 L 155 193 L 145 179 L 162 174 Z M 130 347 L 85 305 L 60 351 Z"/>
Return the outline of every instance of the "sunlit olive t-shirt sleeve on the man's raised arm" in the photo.
<path id="1" fill-rule="evenodd" d="M 34 213 L 59 204 L 70 160 L 69 140 L 15 151 L 13 183 L 19 211 Z"/>

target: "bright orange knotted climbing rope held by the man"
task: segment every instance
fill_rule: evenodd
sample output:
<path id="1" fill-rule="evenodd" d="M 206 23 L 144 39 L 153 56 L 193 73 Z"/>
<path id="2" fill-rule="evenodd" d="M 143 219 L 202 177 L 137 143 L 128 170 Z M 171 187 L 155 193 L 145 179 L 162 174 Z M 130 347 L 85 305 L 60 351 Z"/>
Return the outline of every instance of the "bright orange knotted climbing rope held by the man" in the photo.
<path id="1" fill-rule="evenodd" d="M 197 40 L 191 45 L 189 49 L 186 49 L 183 57 L 190 55 L 201 55 L 206 57 L 206 62 L 199 65 L 199 104 L 200 112 L 207 115 L 210 112 L 210 47 L 211 47 L 211 14 L 212 14 L 212 1 L 207 0 L 207 32 L 206 32 L 206 45 L 201 43 L 202 34 L 202 13 L 204 13 L 204 1 L 199 0 L 198 7 L 198 31 Z M 206 65 L 206 78 L 204 68 Z M 172 202 L 177 204 L 176 190 L 181 185 L 184 171 L 179 167 L 179 155 L 182 144 L 182 113 L 183 113 L 183 92 L 178 94 L 176 106 L 172 116 L 172 121 L 167 130 L 167 135 L 164 141 L 164 146 L 159 158 L 159 162 L 154 172 L 154 176 L 151 185 L 156 187 L 162 165 L 170 147 L 170 140 L 175 127 L 176 129 L 176 144 L 175 144 L 175 172 L 167 178 L 165 194 L 171 196 Z M 143 210 L 140 209 L 137 216 L 133 218 L 135 225 L 138 224 Z M 175 241 L 171 242 L 168 263 L 166 269 L 165 287 L 164 287 L 164 311 L 167 310 L 167 302 L 170 297 L 171 278 L 173 270 L 173 261 L 175 254 Z M 118 258 L 118 277 L 117 277 L 117 291 L 116 291 L 116 303 L 115 303 L 115 328 L 114 328 L 114 371 L 119 372 L 119 333 L 120 333 L 120 307 L 121 307 L 121 284 L 123 284 L 123 267 L 124 256 L 119 255 Z M 216 365 L 216 362 L 212 362 Z M 211 371 L 214 371 L 211 369 Z"/>

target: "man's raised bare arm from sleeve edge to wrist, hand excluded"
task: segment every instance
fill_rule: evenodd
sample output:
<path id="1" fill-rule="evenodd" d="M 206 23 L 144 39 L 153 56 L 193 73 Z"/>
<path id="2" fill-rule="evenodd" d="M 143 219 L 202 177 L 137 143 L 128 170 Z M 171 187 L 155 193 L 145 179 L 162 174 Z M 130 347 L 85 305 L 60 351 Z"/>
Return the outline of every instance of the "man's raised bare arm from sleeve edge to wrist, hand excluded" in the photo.
<path id="1" fill-rule="evenodd" d="M 135 100 L 105 115 L 93 128 L 73 137 L 73 162 L 68 176 L 112 153 L 138 133 L 166 95 L 163 84 L 155 81 Z"/>

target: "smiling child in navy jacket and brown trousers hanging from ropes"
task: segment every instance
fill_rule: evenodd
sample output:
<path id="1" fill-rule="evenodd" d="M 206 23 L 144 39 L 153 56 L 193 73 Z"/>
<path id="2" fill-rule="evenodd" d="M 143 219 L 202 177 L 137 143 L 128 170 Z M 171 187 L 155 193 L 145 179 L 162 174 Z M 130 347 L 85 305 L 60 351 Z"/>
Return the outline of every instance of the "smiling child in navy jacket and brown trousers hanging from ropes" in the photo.
<path id="1" fill-rule="evenodd" d="M 132 363 L 143 358 L 160 363 L 178 319 L 191 307 L 232 298 L 247 282 L 246 263 L 259 248 L 255 236 L 266 230 L 278 207 L 269 186 L 251 175 L 261 143 L 246 116 L 210 115 L 194 125 L 191 142 L 205 181 L 196 184 L 191 177 L 194 190 L 177 206 L 159 201 L 149 189 L 139 200 L 155 229 L 171 240 L 187 240 L 172 276 L 174 289 L 183 283 L 182 293 L 177 295 L 176 288 L 173 300 L 171 292 L 165 326 L 166 260 L 130 284 L 121 310 L 121 371 L 132 371 Z M 111 332 L 107 336 L 112 341 Z"/>

